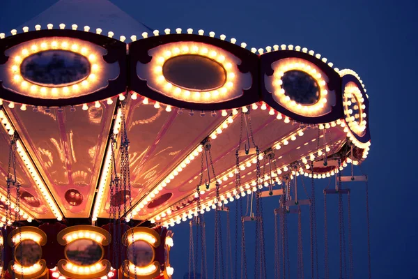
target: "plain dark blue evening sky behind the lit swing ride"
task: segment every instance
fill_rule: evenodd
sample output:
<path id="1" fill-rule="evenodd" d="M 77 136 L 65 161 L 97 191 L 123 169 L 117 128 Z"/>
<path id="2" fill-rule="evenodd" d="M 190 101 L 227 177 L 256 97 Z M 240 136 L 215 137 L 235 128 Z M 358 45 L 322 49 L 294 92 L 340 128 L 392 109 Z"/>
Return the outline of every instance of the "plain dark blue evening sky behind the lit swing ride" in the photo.
<path id="1" fill-rule="evenodd" d="M 363 168 L 369 174 L 371 264 L 373 278 L 418 278 L 417 135 L 418 1 L 112 1 L 153 29 L 204 29 L 237 38 L 249 47 L 281 43 L 306 46 L 327 57 L 338 68 L 352 68 L 366 84 L 370 100 L 371 151 Z M 20 27 L 55 0 L 1 1 L 0 32 Z M 75 19 L 77 22 L 77 19 Z M 54 22 L 59 24 L 59 22 Z M 131 34 L 125 34 L 130 36 Z M 138 36 L 140 34 L 137 34 Z M 358 171 L 358 170 L 357 170 Z M 309 182 L 309 181 L 307 181 Z M 320 274 L 323 276 L 323 195 L 325 181 L 317 183 Z M 352 187 L 355 278 L 366 278 L 366 218 L 364 184 Z M 330 198 L 331 199 L 331 198 Z M 268 278 L 273 277 L 274 215 L 278 199 L 263 201 Z M 235 204 L 229 204 L 235 208 Z M 337 278 L 337 199 L 330 200 L 330 274 Z M 231 212 L 233 220 L 234 212 Z M 307 216 L 306 212 L 305 216 Z M 208 232 L 213 214 L 207 214 Z M 310 274 L 309 222 L 304 223 L 305 278 Z M 289 220 L 290 234 L 297 220 Z M 171 254 L 174 278 L 183 278 L 188 266 L 189 226 L 173 228 Z M 249 278 L 254 269 L 254 228 L 247 231 Z M 296 238 L 293 276 L 295 278 Z M 293 242 L 292 242 L 293 241 Z M 212 241 L 208 241 L 208 248 Z M 209 249 L 210 250 L 210 249 Z M 209 255 L 212 258 L 212 253 Z M 210 262 L 208 266 L 212 266 Z M 210 272 L 209 272 L 210 273 Z M 211 276 L 210 276 L 211 277 Z"/>

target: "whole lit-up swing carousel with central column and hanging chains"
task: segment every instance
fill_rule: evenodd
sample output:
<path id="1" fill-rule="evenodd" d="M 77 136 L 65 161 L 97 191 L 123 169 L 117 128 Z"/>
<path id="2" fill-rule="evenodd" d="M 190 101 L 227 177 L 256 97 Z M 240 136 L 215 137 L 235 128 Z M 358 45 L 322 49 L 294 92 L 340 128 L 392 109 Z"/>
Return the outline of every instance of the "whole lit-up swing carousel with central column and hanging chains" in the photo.
<path id="1" fill-rule="evenodd" d="M 340 232 L 339 278 L 354 278 L 346 183 L 367 190 L 354 168 L 369 153 L 368 109 L 355 71 L 299 45 L 255 49 L 179 28 L 126 38 L 59 23 L 1 33 L 1 278 L 180 278 L 170 264 L 170 228 L 180 223 L 189 278 L 208 269 L 252 278 L 250 261 L 254 278 L 268 278 L 267 268 L 274 278 L 330 278 L 318 179 L 332 181 L 323 193 L 339 204 L 339 224 L 330 224 Z M 279 202 L 274 213 L 263 215 L 265 198 Z M 320 211 L 327 224 L 326 202 Z M 264 227 L 266 214 L 274 228 Z M 255 255 L 245 251 L 246 223 L 255 224 Z M 275 234 L 267 267 L 266 229 Z M 293 275 L 289 246 L 298 251 Z"/>

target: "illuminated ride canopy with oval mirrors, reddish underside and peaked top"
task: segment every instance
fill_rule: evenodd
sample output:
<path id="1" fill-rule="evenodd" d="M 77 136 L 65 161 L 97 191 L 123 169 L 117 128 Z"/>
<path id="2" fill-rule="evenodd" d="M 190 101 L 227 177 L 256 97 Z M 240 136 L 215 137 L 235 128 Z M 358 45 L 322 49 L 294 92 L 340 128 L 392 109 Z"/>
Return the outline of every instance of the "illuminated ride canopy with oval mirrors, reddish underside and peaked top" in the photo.
<path id="1" fill-rule="evenodd" d="M 109 31 L 72 24 L 67 11 L 76 7 L 79 20 Z M 59 23 L 39 24 L 51 19 Z M 192 29 L 148 34 L 109 1 L 59 1 L 29 23 L 35 28 L 0 40 L 0 144 L 6 151 L 11 136 L 16 142 L 26 219 L 97 220 L 124 204 L 127 219 L 173 225 L 196 211 L 199 183 L 208 209 L 216 182 L 222 202 L 237 196 L 237 168 L 243 195 L 256 189 L 257 156 L 274 157 L 270 172 L 280 183 L 286 175 L 334 175 L 369 150 L 362 80 L 305 47 L 256 50 Z M 131 43 L 114 33 L 122 26 L 137 34 L 127 36 Z M 132 189 L 111 197 L 109 173 L 120 164 L 111 140 L 119 146 L 122 121 Z M 342 162 L 332 160 L 337 153 Z M 0 156 L 8 177 L 9 153 Z"/>

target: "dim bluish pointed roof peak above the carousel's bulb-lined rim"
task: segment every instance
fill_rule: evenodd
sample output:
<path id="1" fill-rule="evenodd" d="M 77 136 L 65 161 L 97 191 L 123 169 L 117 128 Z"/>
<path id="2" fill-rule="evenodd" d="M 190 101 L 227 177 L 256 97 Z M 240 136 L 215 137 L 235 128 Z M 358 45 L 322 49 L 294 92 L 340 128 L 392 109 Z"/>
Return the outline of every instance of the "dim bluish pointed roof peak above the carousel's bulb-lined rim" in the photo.
<path id="1" fill-rule="evenodd" d="M 65 24 L 65 29 L 77 24 L 78 29 L 83 30 L 88 25 L 91 32 L 97 28 L 102 29 L 104 35 L 113 31 L 115 38 L 121 35 L 127 38 L 132 35 L 140 37 L 141 33 L 152 31 L 109 0 L 60 0 L 22 27 L 33 30 L 36 24 L 40 24 L 42 29 L 46 29 L 49 23 L 54 24 L 54 29 L 58 29 L 61 23 Z"/>

